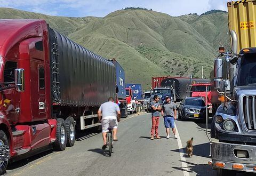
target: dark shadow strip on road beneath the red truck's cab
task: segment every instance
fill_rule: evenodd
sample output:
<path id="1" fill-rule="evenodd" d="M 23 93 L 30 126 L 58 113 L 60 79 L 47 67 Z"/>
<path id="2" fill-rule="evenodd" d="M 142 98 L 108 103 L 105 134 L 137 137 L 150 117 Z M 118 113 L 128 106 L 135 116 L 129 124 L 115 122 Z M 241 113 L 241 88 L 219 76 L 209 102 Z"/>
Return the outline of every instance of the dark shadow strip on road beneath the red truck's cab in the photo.
<path id="1" fill-rule="evenodd" d="M 37 154 L 37 155 L 31 156 L 31 157 L 28 157 L 26 159 L 21 159 L 20 161 L 10 163 L 9 165 L 7 165 L 7 169 L 6 170 L 14 170 L 14 169 L 17 169 L 19 167 L 25 166 L 28 163 L 33 162 L 36 159 L 42 158 L 42 157 L 44 157 L 46 155 L 49 155 L 51 153 L 53 153 L 53 151 L 52 150 L 48 150 L 48 151 L 44 151 L 41 154 Z"/>

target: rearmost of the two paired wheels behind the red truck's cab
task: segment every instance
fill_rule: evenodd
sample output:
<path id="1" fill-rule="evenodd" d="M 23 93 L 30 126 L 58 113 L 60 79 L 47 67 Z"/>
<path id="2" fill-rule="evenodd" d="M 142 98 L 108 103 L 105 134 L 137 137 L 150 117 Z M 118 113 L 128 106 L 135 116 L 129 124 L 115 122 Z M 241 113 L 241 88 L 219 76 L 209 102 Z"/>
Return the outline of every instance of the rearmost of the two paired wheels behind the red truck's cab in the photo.
<path id="1" fill-rule="evenodd" d="M 68 117 L 65 120 L 66 129 L 67 129 L 67 147 L 74 146 L 76 140 L 76 128 L 75 121 L 73 117 Z"/>

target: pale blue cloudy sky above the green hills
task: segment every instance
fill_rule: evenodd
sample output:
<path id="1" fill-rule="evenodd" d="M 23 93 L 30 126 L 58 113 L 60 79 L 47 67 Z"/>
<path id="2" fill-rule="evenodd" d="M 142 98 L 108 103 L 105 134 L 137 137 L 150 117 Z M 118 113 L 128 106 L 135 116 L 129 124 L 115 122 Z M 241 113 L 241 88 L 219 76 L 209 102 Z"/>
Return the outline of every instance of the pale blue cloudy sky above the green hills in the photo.
<path id="1" fill-rule="evenodd" d="M 171 16 L 227 11 L 229 0 L 0 0 L 0 7 L 65 17 L 105 17 L 125 7 L 145 7 Z"/>

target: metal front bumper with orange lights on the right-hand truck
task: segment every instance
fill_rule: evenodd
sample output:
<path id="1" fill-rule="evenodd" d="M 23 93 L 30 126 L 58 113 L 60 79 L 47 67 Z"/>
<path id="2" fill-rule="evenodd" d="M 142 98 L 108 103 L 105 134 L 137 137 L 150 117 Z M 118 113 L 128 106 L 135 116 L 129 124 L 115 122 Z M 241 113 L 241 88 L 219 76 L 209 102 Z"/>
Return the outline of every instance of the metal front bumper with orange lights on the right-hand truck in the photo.
<path id="1" fill-rule="evenodd" d="M 218 167 L 217 162 L 224 163 L 225 166 Z M 243 169 L 239 171 L 256 173 L 256 146 L 212 142 L 213 168 L 235 170 L 234 164 L 243 165 Z"/>

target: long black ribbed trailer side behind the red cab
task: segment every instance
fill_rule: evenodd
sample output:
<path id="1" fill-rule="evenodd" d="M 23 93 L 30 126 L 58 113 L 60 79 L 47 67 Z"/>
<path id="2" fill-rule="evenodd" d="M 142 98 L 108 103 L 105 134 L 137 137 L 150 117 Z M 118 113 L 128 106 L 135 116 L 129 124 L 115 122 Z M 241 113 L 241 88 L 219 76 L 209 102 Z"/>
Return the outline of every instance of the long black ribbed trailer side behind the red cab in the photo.
<path id="1" fill-rule="evenodd" d="M 57 105 L 100 106 L 115 97 L 115 66 L 49 28 L 52 101 Z"/>

